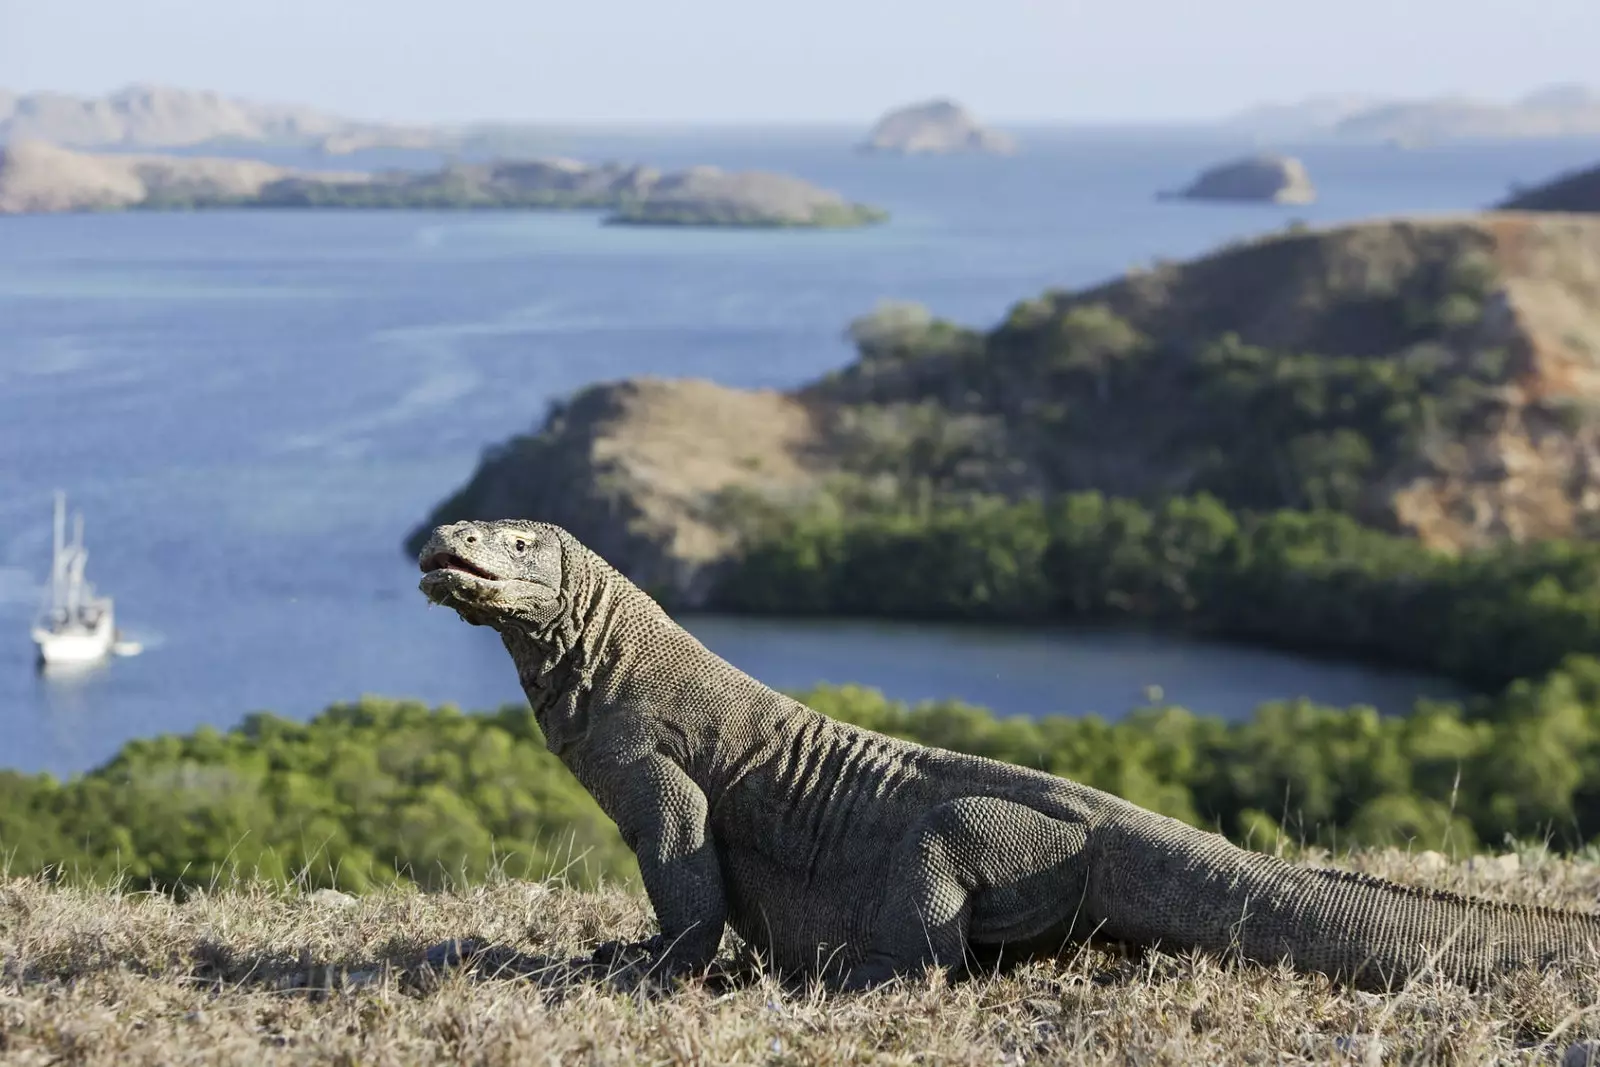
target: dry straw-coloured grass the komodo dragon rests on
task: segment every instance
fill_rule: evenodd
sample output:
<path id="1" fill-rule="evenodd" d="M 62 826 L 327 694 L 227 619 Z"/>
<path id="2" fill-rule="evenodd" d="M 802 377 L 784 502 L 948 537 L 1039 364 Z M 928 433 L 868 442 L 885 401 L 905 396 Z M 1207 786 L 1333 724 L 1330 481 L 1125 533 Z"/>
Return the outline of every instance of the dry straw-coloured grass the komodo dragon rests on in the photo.
<path id="1" fill-rule="evenodd" d="M 1518 869 L 1397 853 L 1352 865 L 1573 907 L 1600 889 L 1600 865 L 1536 854 Z M 1600 1033 L 1594 981 L 1370 995 L 1163 953 L 834 998 L 733 963 L 653 998 L 416 968 L 451 937 L 571 955 L 648 929 L 638 896 L 538 883 L 358 901 L 238 886 L 174 902 L 13 880 L 0 883 L 0 1062 L 1478 1064 L 1560 1062 Z"/>

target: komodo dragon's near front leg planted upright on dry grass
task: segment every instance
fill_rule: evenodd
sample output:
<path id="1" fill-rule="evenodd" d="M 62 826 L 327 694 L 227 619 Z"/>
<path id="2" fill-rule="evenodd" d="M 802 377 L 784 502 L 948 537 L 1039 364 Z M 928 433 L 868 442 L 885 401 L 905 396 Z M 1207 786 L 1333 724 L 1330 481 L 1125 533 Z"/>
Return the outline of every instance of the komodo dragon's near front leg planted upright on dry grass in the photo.
<path id="1" fill-rule="evenodd" d="M 638 947 L 651 950 L 650 968 L 658 974 L 704 969 L 717 957 L 728 918 L 706 795 L 662 755 L 608 771 L 606 779 L 590 792 L 638 857 L 661 925 L 661 934 Z"/>

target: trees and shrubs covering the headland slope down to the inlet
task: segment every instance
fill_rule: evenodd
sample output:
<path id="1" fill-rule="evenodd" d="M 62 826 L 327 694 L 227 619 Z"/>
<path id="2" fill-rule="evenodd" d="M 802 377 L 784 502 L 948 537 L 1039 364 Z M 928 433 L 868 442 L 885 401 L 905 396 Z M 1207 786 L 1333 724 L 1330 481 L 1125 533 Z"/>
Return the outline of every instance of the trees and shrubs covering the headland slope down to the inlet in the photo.
<path id="1" fill-rule="evenodd" d="M 1331 331 L 1370 326 L 1350 355 L 1184 344 L 1054 293 L 989 334 L 878 307 L 851 328 L 859 360 L 810 390 L 838 474 L 800 504 L 722 494 L 742 547 L 714 603 L 1154 625 L 1485 691 L 1600 654 L 1600 547 L 1453 557 L 1390 533 L 1395 485 L 1506 414 L 1506 350 L 1459 336 L 1491 282 L 1475 253 L 1368 277 L 1331 309 Z"/>

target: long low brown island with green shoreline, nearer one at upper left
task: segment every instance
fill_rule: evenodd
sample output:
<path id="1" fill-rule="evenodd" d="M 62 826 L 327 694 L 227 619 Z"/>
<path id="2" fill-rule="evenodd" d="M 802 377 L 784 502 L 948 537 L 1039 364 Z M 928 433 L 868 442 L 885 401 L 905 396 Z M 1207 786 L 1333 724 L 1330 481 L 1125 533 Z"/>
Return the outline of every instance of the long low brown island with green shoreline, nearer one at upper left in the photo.
<path id="1" fill-rule="evenodd" d="M 304 171 L 258 160 L 94 155 L 40 141 L 0 152 L 0 214 L 202 208 L 611 210 L 616 224 L 848 227 L 886 214 L 786 174 L 576 160 L 435 171 Z"/>

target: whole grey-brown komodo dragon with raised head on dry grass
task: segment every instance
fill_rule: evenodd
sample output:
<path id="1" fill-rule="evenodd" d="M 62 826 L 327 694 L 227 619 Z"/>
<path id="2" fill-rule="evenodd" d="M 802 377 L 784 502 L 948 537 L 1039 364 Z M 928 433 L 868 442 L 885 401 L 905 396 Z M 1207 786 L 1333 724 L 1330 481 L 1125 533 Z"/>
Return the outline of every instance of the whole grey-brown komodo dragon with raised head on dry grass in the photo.
<path id="1" fill-rule="evenodd" d="M 421 589 L 499 630 L 550 750 L 638 857 L 666 973 L 725 925 L 862 989 L 1104 937 L 1366 989 L 1600 960 L 1600 917 L 1296 867 L 1077 782 L 830 720 L 712 654 L 558 526 L 434 531 Z"/>

